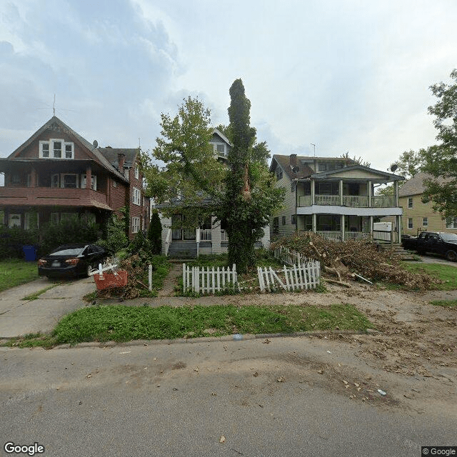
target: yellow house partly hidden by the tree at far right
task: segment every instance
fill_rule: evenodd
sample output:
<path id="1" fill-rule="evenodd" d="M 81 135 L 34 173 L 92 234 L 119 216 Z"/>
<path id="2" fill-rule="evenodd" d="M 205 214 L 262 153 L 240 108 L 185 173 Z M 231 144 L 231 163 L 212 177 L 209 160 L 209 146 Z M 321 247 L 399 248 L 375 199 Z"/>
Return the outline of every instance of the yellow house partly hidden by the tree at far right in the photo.
<path id="1" fill-rule="evenodd" d="M 448 231 L 457 233 L 457 218 L 446 221 L 440 213 L 433 211 L 431 201 L 422 202 L 425 186 L 423 181 L 431 178 L 426 173 L 418 173 L 406 181 L 398 191 L 398 200 L 403 207 L 402 233 L 416 236 L 421 231 Z"/>

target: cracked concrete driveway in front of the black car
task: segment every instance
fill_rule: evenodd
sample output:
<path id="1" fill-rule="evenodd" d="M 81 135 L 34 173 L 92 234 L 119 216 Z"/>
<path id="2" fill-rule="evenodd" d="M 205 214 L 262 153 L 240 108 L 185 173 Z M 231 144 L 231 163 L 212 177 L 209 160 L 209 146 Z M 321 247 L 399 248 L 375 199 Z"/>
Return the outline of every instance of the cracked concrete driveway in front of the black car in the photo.
<path id="1" fill-rule="evenodd" d="M 36 300 L 24 300 L 26 296 L 54 284 Z M 39 278 L 0 292 L 0 338 L 51 331 L 63 316 L 83 308 L 86 302 L 82 297 L 95 290 L 92 277 L 61 283 Z"/>

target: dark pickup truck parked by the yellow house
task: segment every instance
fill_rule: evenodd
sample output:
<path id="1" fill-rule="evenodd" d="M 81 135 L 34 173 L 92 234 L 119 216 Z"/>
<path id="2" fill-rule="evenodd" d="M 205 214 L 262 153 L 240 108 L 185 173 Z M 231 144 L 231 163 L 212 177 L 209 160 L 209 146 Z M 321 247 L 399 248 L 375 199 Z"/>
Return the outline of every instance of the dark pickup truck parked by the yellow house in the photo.
<path id="1" fill-rule="evenodd" d="M 442 231 L 423 231 L 417 237 L 403 238 L 403 248 L 417 251 L 419 254 L 426 252 L 441 254 L 447 260 L 457 261 L 457 234 Z"/>

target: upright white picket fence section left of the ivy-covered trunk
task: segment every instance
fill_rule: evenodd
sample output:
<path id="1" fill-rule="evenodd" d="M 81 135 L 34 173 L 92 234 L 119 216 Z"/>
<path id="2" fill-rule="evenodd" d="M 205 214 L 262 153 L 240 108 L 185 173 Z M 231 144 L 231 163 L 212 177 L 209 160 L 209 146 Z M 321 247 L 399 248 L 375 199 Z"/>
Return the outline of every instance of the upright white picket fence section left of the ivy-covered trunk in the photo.
<path id="1" fill-rule="evenodd" d="M 186 266 L 183 263 L 183 291 L 195 293 L 216 293 L 223 291 L 227 287 L 236 287 L 239 290 L 238 275 L 236 265 L 233 263 L 232 269 L 229 267 L 215 269 L 200 268 L 198 266 Z"/>

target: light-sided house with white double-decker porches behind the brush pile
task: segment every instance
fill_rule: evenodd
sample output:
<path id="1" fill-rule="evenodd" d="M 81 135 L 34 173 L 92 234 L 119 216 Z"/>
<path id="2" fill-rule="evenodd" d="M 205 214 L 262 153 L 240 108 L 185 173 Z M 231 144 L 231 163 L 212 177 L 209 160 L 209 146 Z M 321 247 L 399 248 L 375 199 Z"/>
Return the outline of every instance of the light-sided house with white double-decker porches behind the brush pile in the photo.
<path id="1" fill-rule="evenodd" d="M 373 221 L 383 216 L 397 220 L 401 238 L 398 181 L 403 176 L 386 173 L 338 157 L 274 155 L 270 171 L 276 185 L 286 189 L 283 210 L 271 221 L 271 236 L 313 231 L 336 240 L 361 240 L 373 236 Z M 391 196 L 375 196 L 375 186 L 393 182 Z"/>

